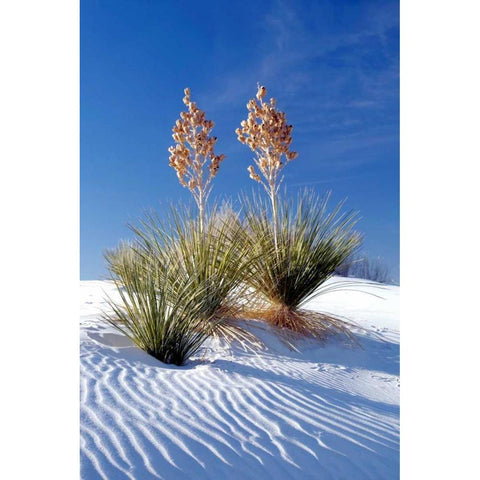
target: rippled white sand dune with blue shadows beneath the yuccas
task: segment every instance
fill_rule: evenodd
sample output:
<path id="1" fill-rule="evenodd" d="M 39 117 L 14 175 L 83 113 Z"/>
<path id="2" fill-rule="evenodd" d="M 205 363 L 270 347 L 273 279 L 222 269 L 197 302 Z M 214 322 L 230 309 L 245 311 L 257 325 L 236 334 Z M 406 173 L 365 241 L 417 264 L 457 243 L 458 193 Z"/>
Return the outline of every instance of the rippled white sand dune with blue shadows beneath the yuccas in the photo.
<path id="1" fill-rule="evenodd" d="M 335 281 L 335 280 L 332 280 Z M 399 477 L 399 288 L 334 292 L 308 308 L 343 315 L 340 339 L 258 354 L 213 342 L 162 364 L 100 320 L 108 282 L 82 282 L 81 478 Z"/>

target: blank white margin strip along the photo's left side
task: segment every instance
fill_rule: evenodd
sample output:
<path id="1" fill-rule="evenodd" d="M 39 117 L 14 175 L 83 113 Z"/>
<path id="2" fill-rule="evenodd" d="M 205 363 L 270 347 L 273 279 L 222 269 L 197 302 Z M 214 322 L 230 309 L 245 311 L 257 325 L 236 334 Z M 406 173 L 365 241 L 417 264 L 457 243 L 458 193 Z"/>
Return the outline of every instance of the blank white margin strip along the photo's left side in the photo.
<path id="1" fill-rule="evenodd" d="M 0 472 L 78 478 L 78 1 L 2 2 L 0 48 Z"/>

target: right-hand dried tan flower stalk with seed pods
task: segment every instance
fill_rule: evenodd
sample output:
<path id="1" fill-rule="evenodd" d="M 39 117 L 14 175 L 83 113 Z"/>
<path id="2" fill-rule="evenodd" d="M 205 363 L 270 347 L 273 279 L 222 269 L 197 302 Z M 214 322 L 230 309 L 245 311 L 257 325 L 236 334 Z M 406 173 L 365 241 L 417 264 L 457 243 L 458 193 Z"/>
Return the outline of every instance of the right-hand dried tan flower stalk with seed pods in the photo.
<path id="1" fill-rule="evenodd" d="M 280 172 L 285 165 L 297 158 L 298 153 L 290 150 L 292 143 L 292 125 L 287 124 L 284 112 L 277 110 L 276 101 L 269 102 L 263 99 L 267 89 L 258 86 L 256 99 L 247 103 L 248 117 L 243 120 L 235 133 L 238 140 L 248 145 L 255 154 L 254 162 L 262 177 L 250 165 L 250 178 L 262 184 L 272 204 L 272 223 L 275 240 L 275 249 L 278 248 L 278 207 L 277 193 L 282 182 Z"/>

